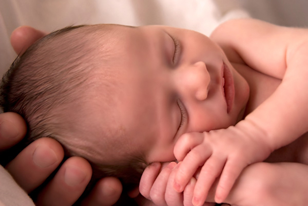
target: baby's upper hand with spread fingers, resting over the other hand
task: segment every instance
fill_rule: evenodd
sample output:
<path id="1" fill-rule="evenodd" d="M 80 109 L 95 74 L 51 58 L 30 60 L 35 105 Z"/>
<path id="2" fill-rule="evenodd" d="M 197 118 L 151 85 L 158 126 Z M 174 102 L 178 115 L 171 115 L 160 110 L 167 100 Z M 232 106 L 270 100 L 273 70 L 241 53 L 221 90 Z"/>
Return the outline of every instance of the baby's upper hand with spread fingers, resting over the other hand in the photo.
<path id="1" fill-rule="evenodd" d="M 189 133 L 179 138 L 174 155 L 182 161 L 173 183 L 177 192 L 202 166 L 193 193 L 193 205 L 201 206 L 215 179 L 220 176 L 215 201 L 222 203 L 228 196 L 236 178 L 247 165 L 263 161 L 270 154 L 261 139 L 251 137 L 237 127 L 205 133 Z"/>

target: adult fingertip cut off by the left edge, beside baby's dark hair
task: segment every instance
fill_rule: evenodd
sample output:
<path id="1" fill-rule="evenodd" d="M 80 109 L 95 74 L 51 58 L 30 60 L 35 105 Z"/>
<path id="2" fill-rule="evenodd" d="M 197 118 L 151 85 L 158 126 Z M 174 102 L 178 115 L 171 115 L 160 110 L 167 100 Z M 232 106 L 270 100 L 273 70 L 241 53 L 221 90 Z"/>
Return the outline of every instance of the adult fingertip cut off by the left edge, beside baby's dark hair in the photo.
<path id="1" fill-rule="evenodd" d="M 7 149 L 19 142 L 26 134 L 25 121 L 16 113 L 0 114 L 0 150 Z"/>

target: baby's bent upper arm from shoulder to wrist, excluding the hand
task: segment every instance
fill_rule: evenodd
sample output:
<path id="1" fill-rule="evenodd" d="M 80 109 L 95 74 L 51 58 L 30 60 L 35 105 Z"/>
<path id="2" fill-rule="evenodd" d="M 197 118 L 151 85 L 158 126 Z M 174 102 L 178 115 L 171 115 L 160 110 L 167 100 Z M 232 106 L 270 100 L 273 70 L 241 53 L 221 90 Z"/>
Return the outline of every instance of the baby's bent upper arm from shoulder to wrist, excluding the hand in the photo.
<path id="1" fill-rule="evenodd" d="M 308 131 L 307 29 L 238 19 L 220 26 L 211 38 L 228 57 L 235 60 L 237 54 L 250 68 L 282 79 L 277 90 L 237 126 L 257 128 L 260 133 L 254 135 L 272 151 Z"/>

